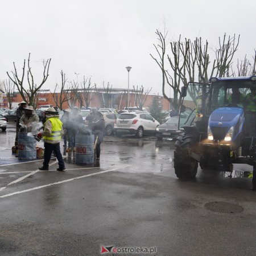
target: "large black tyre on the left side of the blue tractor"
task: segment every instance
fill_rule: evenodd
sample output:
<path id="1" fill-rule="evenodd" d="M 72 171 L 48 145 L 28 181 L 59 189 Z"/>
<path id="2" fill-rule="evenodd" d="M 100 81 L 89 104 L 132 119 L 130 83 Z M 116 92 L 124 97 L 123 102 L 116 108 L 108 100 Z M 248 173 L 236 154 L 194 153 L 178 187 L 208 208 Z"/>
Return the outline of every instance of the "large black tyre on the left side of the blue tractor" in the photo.
<path id="1" fill-rule="evenodd" d="M 189 149 L 192 146 L 192 135 L 177 137 L 174 150 L 174 169 L 179 179 L 188 180 L 196 177 L 198 162 L 189 155 Z"/>

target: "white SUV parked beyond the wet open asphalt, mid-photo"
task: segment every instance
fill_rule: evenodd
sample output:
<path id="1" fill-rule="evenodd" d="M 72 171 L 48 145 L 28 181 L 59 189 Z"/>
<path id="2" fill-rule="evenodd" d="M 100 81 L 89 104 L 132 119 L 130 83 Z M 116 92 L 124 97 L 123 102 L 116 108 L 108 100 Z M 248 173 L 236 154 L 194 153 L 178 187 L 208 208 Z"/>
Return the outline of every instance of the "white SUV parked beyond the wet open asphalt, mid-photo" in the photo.
<path id="1" fill-rule="evenodd" d="M 122 113 L 114 126 L 114 133 L 120 136 L 121 133 L 136 134 L 141 138 L 146 134 L 155 135 L 155 129 L 160 123 L 150 114 L 145 112 Z"/>

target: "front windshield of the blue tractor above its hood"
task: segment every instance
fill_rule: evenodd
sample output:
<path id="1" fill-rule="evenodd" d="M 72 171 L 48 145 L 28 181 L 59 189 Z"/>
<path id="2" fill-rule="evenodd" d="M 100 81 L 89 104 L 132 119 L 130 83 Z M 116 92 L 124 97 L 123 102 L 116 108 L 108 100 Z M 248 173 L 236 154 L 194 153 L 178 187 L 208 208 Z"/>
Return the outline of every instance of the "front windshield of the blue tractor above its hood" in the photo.
<path id="1" fill-rule="evenodd" d="M 222 106 L 236 106 L 244 108 L 246 96 L 256 89 L 255 81 L 227 80 L 212 83 L 208 113 Z"/>

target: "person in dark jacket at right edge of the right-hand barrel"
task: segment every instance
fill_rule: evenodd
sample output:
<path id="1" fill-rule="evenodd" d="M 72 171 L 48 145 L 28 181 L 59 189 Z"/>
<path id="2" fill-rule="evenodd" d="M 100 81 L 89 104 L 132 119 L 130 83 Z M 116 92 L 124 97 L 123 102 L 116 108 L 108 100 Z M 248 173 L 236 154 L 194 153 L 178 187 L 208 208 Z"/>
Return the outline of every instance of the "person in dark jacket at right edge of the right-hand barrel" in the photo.
<path id="1" fill-rule="evenodd" d="M 104 130 L 105 130 L 105 122 L 103 119 L 103 115 L 100 112 L 94 113 L 94 118 L 92 122 L 92 133 L 94 134 L 94 137 L 95 137 L 97 161 L 100 160 L 101 142 L 103 142 Z"/>

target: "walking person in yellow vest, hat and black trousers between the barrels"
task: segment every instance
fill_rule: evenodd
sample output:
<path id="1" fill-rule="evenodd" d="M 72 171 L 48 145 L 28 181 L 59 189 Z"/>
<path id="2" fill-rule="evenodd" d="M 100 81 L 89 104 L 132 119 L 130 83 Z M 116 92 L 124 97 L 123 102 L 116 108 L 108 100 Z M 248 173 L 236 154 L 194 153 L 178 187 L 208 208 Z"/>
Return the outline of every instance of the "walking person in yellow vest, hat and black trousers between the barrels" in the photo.
<path id="1" fill-rule="evenodd" d="M 65 164 L 60 152 L 60 140 L 63 133 L 63 123 L 59 119 L 59 113 L 54 108 L 48 108 L 46 111 L 46 122 L 44 123 L 43 133 L 38 133 L 39 137 L 44 139 L 44 162 L 39 170 L 48 171 L 49 161 L 51 159 L 52 151 L 59 162 L 57 171 L 64 171 Z"/>

